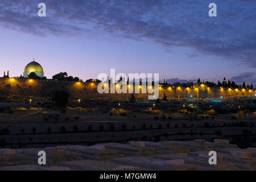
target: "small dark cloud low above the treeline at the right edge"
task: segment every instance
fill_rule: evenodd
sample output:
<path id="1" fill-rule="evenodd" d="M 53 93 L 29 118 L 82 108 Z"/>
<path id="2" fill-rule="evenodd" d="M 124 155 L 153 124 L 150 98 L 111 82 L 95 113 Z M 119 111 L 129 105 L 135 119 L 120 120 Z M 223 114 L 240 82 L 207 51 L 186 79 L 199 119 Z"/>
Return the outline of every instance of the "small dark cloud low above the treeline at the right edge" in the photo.
<path id="1" fill-rule="evenodd" d="M 256 86 L 256 73 L 249 72 L 249 73 L 240 73 L 238 76 L 233 76 L 230 78 L 230 80 L 233 80 L 237 82 L 237 84 L 242 84 L 245 82 L 246 84 L 250 85 L 251 83 Z"/>

